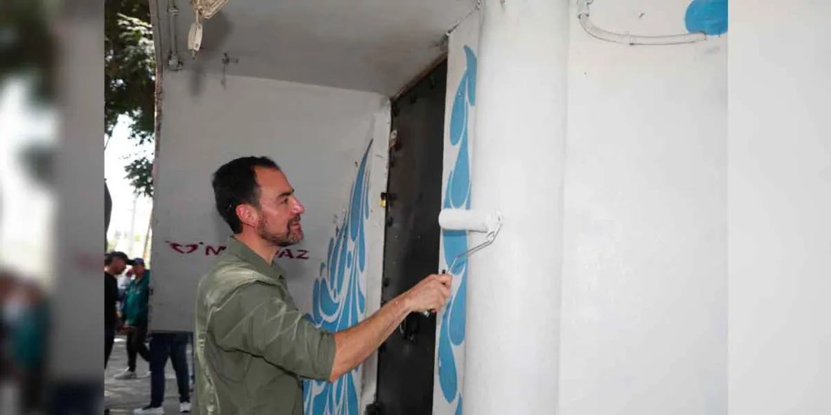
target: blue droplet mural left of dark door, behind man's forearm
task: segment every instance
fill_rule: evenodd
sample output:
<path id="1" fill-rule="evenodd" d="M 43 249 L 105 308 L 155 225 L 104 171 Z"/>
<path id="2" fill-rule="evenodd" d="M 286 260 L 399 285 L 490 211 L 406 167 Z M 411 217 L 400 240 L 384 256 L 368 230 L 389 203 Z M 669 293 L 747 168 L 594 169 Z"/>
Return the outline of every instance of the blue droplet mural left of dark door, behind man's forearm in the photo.
<path id="1" fill-rule="evenodd" d="M 372 142 L 358 167 L 347 215 L 329 240 L 326 261 L 312 291 L 312 314 L 316 325 L 332 333 L 356 325 L 366 310 L 361 276 L 366 269 L 366 220 L 369 218 L 369 172 L 366 163 Z M 314 415 L 358 414 L 357 370 L 335 382 L 308 380 L 303 383 L 304 413 Z"/>

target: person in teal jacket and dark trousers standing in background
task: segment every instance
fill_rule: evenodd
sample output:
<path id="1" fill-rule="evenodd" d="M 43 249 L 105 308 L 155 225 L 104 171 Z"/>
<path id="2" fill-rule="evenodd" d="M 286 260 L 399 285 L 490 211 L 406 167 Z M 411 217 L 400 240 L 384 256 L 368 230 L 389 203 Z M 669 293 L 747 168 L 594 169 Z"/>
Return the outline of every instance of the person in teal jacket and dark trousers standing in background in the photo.
<path id="1" fill-rule="evenodd" d="M 133 280 L 125 291 L 124 307 L 121 320 L 127 332 L 127 369 L 117 374 L 117 379 L 136 378 L 135 361 L 140 355 L 150 363 L 150 350 L 147 349 L 147 312 L 150 302 L 150 270 L 145 268 L 145 260 L 135 258 L 130 261 Z"/>

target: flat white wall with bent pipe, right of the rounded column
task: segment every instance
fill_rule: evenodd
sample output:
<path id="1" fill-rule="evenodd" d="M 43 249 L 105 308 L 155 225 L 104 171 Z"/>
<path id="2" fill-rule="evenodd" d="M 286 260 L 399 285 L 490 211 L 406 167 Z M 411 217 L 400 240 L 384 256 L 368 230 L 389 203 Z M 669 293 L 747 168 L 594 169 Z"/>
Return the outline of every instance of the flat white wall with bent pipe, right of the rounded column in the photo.
<path id="1" fill-rule="evenodd" d="M 689 4 L 598 0 L 591 16 L 676 34 Z M 724 37 L 627 46 L 571 20 L 563 415 L 727 412 L 726 59 Z"/>

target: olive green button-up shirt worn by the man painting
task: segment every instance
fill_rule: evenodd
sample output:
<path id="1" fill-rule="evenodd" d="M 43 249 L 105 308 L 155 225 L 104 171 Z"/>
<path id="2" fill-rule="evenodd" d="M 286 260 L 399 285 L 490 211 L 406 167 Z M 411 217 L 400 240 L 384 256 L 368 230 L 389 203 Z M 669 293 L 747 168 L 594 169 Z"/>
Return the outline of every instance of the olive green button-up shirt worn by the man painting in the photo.
<path id="1" fill-rule="evenodd" d="M 303 317 L 283 270 L 229 238 L 196 294 L 195 412 L 302 415 L 301 378 L 328 379 L 335 339 Z"/>

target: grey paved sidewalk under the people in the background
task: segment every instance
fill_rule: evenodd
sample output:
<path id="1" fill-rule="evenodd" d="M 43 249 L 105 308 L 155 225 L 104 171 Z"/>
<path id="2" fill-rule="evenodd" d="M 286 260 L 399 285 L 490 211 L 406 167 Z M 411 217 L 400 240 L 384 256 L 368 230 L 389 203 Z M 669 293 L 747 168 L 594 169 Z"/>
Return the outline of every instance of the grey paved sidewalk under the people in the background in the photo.
<path id="1" fill-rule="evenodd" d="M 133 413 L 135 408 L 143 408 L 150 403 L 150 365 L 138 358 L 135 372 L 138 378 L 130 380 L 117 380 L 116 374 L 127 369 L 127 349 L 125 336 L 116 337 L 116 344 L 112 348 L 110 362 L 107 364 L 104 378 L 104 405 L 110 409 L 110 413 L 124 414 Z M 191 366 L 191 349 L 188 347 L 188 367 Z M 176 374 L 170 359 L 165 365 L 165 413 L 179 413 L 179 391 L 176 388 Z M 191 399 L 192 400 L 192 399 Z"/>

